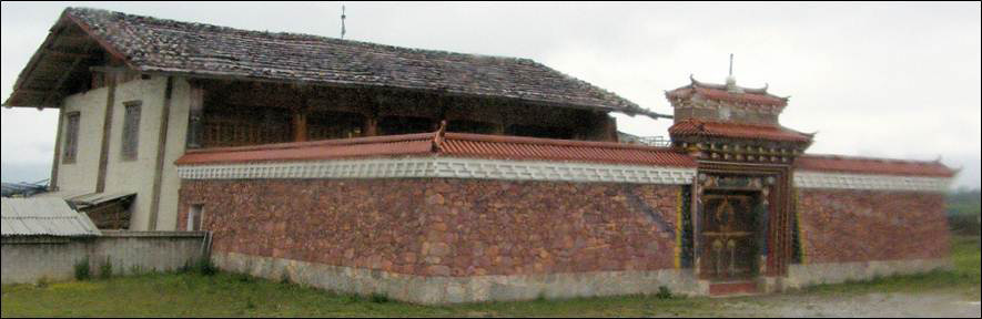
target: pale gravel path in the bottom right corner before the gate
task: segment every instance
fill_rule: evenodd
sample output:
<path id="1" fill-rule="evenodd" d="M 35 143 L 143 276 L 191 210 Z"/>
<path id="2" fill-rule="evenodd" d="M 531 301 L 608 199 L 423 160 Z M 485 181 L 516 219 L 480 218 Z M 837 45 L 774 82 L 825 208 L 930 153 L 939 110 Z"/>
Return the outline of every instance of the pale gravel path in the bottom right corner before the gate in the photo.
<path id="1" fill-rule="evenodd" d="M 769 296 L 731 300 L 722 308 L 727 317 L 982 317 L 979 300 L 956 292 Z"/>

